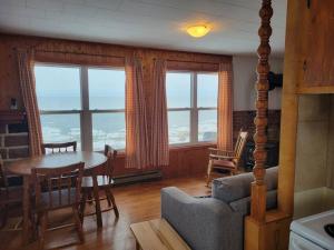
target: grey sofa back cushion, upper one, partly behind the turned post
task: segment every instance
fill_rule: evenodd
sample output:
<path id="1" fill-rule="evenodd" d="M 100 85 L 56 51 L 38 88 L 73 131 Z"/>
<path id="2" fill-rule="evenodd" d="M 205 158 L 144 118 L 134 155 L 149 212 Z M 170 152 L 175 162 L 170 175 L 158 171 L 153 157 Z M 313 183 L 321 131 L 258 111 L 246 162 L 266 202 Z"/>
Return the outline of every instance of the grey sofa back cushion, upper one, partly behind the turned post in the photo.
<path id="1" fill-rule="evenodd" d="M 266 170 L 265 181 L 267 190 L 277 189 L 278 167 Z M 213 180 L 213 198 L 226 203 L 250 196 L 250 183 L 254 181 L 252 172 Z"/>

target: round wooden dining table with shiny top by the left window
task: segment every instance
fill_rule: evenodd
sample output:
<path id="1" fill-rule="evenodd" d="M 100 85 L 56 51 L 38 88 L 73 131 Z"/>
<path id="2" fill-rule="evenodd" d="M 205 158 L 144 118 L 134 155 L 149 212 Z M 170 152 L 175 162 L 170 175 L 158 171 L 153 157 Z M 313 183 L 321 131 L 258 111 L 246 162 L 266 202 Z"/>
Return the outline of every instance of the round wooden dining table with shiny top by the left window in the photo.
<path id="1" fill-rule="evenodd" d="M 61 152 L 50 153 L 39 157 L 31 157 L 23 160 L 18 160 L 7 164 L 7 170 L 10 173 L 23 177 L 23 227 L 22 240 L 27 244 L 30 239 L 30 197 L 31 197 L 31 169 L 33 168 L 60 168 L 78 162 L 85 162 L 85 176 L 91 176 L 94 182 L 94 196 L 97 211 L 100 211 L 100 203 L 98 199 L 98 183 L 95 168 L 107 163 L 107 157 L 99 152 L 77 151 L 77 152 Z M 102 227 L 101 213 L 97 212 L 97 224 Z"/>

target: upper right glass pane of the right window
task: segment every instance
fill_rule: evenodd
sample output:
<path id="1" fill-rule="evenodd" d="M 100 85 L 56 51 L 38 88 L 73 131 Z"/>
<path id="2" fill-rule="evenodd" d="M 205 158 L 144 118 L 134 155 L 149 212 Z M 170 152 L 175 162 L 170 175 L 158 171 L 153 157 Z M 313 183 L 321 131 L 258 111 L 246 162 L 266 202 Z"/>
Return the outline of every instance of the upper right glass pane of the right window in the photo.
<path id="1" fill-rule="evenodd" d="M 217 107 L 218 74 L 197 74 L 197 107 Z"/>

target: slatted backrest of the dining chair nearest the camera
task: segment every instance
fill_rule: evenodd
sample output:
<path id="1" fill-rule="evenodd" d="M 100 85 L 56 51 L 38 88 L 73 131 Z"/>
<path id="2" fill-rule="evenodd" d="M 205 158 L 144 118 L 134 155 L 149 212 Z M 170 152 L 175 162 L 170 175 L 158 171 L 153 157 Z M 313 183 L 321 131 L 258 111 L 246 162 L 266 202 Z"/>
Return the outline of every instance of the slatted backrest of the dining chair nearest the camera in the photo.
<path id="1" fill-rule="evenodd" d="M 78 204 L 80 202 L 84 166 L 84 162 L 78 162 L 52 169 L 32 169 L 37 207 L 42 204 L 43 209 L 57 209 Z M 42 194 L 45 199 L 47 198 L 43 203 Z"/>

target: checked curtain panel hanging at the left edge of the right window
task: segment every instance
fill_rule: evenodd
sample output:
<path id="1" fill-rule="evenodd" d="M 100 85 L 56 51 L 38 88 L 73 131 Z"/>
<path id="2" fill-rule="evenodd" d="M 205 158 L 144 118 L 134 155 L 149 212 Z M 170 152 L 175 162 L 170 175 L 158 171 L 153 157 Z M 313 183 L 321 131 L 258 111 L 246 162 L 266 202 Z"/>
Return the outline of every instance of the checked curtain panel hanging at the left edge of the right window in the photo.
<path id="1" fill-rule="evenodd" d="M 154 103 L 151 127 L 151 164 L 154 167 L 168 166 L 168 119 L 166 101 L 166 61 L 156 59 L 154 63 Z"/>

